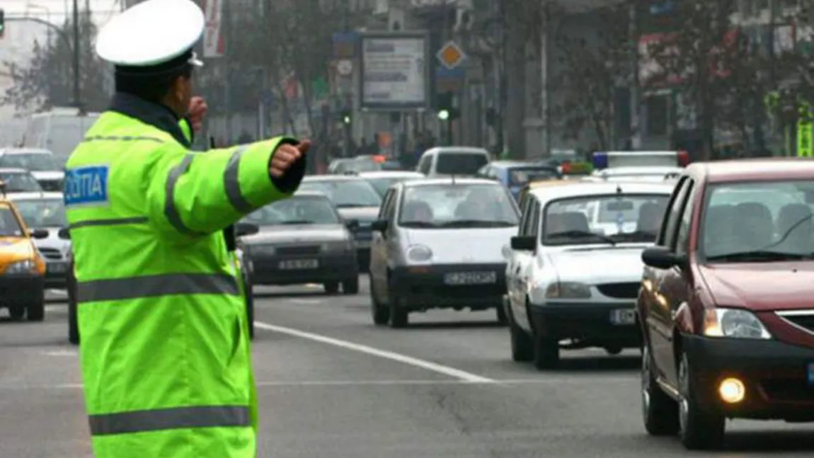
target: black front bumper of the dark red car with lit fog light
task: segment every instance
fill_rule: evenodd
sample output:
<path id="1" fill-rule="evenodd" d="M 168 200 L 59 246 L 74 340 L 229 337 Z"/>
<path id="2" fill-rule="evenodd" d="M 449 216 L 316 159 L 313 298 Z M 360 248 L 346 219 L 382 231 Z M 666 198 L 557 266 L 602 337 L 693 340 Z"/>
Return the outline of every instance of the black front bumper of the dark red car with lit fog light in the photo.
<path id="1" fill-rule="evenodd" d="M 729 417 L 814 421 L 814 348 L 777 340 L 682 336 L 694 369 L 702 405 L 716 406 Z M 740 403 L 724 403 L 718 385 L 737 377 L 746 386 Z"/>

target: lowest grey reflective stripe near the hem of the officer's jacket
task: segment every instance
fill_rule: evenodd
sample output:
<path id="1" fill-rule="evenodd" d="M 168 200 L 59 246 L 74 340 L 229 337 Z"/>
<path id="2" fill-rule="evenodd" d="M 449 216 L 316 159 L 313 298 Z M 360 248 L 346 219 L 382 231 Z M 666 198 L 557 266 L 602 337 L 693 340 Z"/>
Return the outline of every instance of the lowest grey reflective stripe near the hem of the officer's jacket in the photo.
<path id="1" fill-rule="evenodd" d="M 200 406 L 137 410 L 88 417 L 90 434 L 141 433 L 180 428 L 251 426 L 248 406 Z"/>

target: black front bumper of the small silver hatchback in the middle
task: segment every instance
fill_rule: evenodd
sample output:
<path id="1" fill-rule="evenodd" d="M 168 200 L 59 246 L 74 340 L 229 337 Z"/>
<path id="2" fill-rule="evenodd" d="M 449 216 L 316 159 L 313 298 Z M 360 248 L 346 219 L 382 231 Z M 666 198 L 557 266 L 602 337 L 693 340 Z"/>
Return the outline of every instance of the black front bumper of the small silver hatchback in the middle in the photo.
<path id="1" fill-rule="evenodd" d="M 448 273 L 494 272 L 495 281 L 485 284 L 449 285 Z M 444 264 L 399 267 L 392 272 L 392 287 L 399 306 L 413 310 L 427 308 L 501 307 L 505 294 L 505 264 Z"/>

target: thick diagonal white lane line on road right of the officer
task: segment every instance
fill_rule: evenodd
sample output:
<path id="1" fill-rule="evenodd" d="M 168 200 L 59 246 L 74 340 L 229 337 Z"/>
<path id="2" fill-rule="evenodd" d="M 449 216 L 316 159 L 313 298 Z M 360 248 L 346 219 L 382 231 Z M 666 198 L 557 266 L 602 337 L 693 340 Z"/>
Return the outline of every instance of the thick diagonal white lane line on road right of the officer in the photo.
<path id="1" fill-rule="evenodd" d="M 322 342 L 328 345 L 333 345 L 335 347 L 340 347 L 347 350 L 359 351 L 360 353 L 365 353 L 367 355 L 379 356 L 379 358 L 384 358 L 385 360 L 392 360 L 402 364 L 408 364 L 417 368 L 427 369 L 435 373 L 442 373 L 444 375 L 448 375 L 449 377 L 460 379 L 463 382 L 470 383 L 497 382 L 495 380 L 492 380 L 491 378 L 481 377 L 474 373 L 468 373 L 460 369 L 451 368 L 449 366 L 444 366 L 441 364 L 435 364 L 431 361 L 419 360 L 418 358 L 413 358 L 412 356 L 401 355 L 393 351 L 379 350 L 378 348 L 368 347 L 366 345 L 348 342 L 347 340 L 340 340 L 338 338 L 330 338 L 321 334 L 313 334 L 305 331 L 300 331 L 300 329 L 287 328 L 285 326 L 269 325 L 268 323 L 263 323 L 260 321 L 255 321 L 255 326 L 260 329 L 267 329 L 269 331 L 278 332 L 280 334 L 288 334 L 299 338 L 307 338 L 315 342 Z"/>

